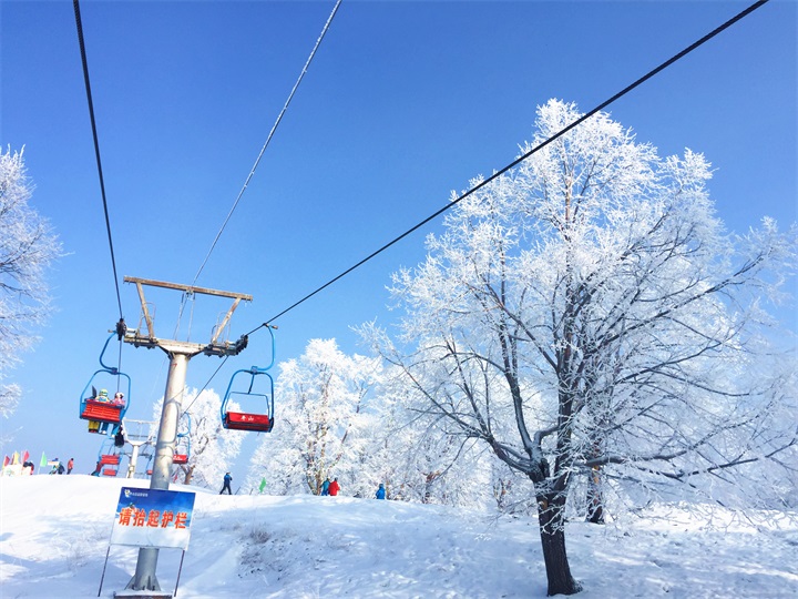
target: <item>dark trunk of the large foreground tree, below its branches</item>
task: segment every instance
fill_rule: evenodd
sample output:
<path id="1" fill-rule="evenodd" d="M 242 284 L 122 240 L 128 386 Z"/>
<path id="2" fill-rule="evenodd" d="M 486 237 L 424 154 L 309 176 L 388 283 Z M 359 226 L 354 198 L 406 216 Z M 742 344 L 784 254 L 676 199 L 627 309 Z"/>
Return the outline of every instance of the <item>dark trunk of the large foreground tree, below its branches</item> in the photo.
<path id="1" fill-rule="evenodd" d="M 565 496 L 562 494 L 538 496 L 538 522 L 540 526 L 543 561 L 549 580 L 548 595 L 574 595 L 582 585 L 571 576 L 565 552 Z"/>

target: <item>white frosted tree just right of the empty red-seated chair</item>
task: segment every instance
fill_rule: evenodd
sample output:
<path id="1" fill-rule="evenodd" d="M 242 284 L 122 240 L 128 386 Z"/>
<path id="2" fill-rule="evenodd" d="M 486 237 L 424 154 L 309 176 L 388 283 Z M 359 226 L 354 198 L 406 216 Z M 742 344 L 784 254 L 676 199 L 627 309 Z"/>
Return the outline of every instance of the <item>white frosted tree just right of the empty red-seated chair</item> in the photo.
<path id="1" fill-rule="evenodd" d="M 265 477 L 269 493 L 319 494 L 329 476 L 356 495 L 368 478 L 367 404 L 380 380 L 380 362 L 346 355 L 335 339 L 311 339 L 298 359 L 280 363 L 275 426 L 253 455 L 247 487 Z"/>

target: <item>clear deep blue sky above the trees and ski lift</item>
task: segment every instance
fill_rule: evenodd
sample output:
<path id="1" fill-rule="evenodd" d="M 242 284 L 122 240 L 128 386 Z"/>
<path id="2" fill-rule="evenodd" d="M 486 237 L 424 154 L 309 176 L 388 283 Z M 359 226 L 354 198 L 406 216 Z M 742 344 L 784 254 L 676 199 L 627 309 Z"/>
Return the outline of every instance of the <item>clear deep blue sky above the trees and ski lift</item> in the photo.
<path id="1" fill-rule="evenodd" d="M 121 277 L 192 282 L 334 3 L 81 3 L 129 324 L 140 305 Z M 237 337 L 512 161 L 536 105 L 560 98 L 587 111 L 747 6 L 345 0 L 197 285 L 254 296 L 236 312 Z M 797 19 L 798 4 L 773 0 L 608 109 L 662 154 L 705 153 L 733 231 L 797 217 Z M 74 456 L 88 471 L 101 438 L 78 400 L 119 314 L 72 2 L 2 2 L 0 40 L 0 143 L 24 145 L 32 205 L 68 253 L 49 275 L 58 312 L 10 377 L 25 395 L 1 423 L 14 437 L 3 449 Z M 418 263 L 424 234 L 439 230 L 279 318 L 277 359 L 314 337 L 358 351 L 349 327 L 396 316 L 390 273 Z M 168 337 L 180 294 L 152 300 L 156 335 Z M 226 308 L 201 297 L 192 341 L 206 341 Z M 188 329 L 186 317 L 181 338 Z M 211 386 L 267 361 L 262 332 Z M 218 364 L 194 358 L 188 385 Z M 164 356 L 125 346 L 122 365 L 129 416 L 149 418 Z"/>

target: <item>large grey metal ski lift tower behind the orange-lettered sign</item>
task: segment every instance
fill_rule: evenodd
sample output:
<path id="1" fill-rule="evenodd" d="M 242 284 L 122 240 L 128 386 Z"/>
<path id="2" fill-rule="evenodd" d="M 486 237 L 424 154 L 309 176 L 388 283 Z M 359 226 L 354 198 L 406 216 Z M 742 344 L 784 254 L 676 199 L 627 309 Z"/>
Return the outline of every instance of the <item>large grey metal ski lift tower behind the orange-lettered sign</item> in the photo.
<path id="1" fill-rule="evenodd" d="M 172 470 L 172 459 L 174 457 L 175 443 L 177 439 L 177 419 L 180 418 L 181 404 L 183 403 L 183 389 L 185 388 L 188 361 L 200 354 L 219 357 L 235 356 L 246 347 L 246 336 L 242 336 L 234 343 L 219 339 L 219 337 L 222 336 L 223 331 L 227 327 L 231 317 L 233 316 L 233 312 L 235 312 L 236 307 L 238 307 L 241 301 L 244 300 L 246 302 L 252 302 L 252 295 L 132 276 L 125 276 L 124 282 L 134 283 L 136 286 L 139 300 L 142 305 L 143 322 L 140 323 L 139 328 L 133 331 L 125 329 L 124 324 L 122 324 L 120 327 L 121 331 L 119 331 L 121 337 L 125 343 L 131 343 L 135 347 L 146 347 L 149 349 L 157 347 L 170 357 L 170 369 L 166 378 L 163 412 L 161 413 L 161 425 L 158 427 L 157 440 L 155 443 L 155 461 L 153 464 L 152 478 L 150 479 L 151 489 L 167 490 L 170 471 Z M 175 290 L 183 292 L 187 296 L 202 294 L 213 295 L 216 297 L 227 297 L 233 300 L 233 305 L 227 311 L 227 314 L 223 318 L 222 323 L 214 328 L 208 343 L 191 343 L 158 338 L 155 336 L 153 315 L 150 313 L 147 303 L 144 300 L 145 286 Z M 114 596 L 141 597 L 141 591 L 149 591 L 146 597 L 171 598 L 172 593 L 162 591 L 158 586 L 157 578 L 155 577 L 157 558 L 158 549 L 141 547 L 139 549 L 139 561 L 136 562 L 135 575 L 133 575 L 133 578 L 127 583 L 127 587 L 125 587 L 125 590 L 116 592 Z"/>

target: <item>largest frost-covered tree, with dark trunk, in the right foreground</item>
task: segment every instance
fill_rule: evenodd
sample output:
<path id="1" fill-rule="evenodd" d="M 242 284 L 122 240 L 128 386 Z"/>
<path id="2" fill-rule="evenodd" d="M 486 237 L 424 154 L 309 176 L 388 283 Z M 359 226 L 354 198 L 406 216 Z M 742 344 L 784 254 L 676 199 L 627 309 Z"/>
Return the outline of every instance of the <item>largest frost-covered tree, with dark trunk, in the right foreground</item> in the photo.
<path id="1" fill-rule="evenodd" d="M 579 116 L 539 108 L 522 152 Z M 596 114 L 460 202 L 395 275 L 413 351 L 371 332 L 429 418 L 533 483 L 550 595 L 580 590 L 575 478 L 596 519 L 607 488 L 712 497 L 735 466 L 795 467 L 796 398 L 763 331 L 796 229 L 726 233 L 709 177 L 700 154 L 661 158 Z"/>

